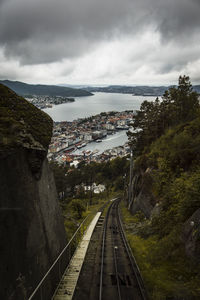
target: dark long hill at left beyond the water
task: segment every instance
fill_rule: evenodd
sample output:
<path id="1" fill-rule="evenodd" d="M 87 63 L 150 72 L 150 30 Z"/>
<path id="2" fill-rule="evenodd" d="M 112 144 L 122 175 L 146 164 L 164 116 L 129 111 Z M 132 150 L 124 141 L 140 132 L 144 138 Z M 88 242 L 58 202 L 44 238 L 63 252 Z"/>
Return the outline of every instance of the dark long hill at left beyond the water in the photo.
<path id="1" fill-rule="evenodd" d="M 25 95 L 48 95 L 63 97 L 91 96 L 92 93 L 83 89 L 74 89 L 56 85 L 27 84 L 20 81 L 0 80 L 0 83 L 9 87 L 21 96 Z"/>

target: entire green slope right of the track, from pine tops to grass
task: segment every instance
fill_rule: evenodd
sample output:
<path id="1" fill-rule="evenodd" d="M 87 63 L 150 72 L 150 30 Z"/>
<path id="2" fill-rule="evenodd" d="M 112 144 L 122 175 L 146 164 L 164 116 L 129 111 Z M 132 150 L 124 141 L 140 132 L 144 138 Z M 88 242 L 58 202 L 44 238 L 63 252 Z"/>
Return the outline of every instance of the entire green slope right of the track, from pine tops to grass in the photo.
<path id="1" fill-rule="evenodd" d="M 200 111 L 189 78 L 144 102 L 133 126 L 134 172 L 150 170 L 156 204 L 149 220 L 124 211 L 130 244 L 151 299 L 199 299 Z"/>

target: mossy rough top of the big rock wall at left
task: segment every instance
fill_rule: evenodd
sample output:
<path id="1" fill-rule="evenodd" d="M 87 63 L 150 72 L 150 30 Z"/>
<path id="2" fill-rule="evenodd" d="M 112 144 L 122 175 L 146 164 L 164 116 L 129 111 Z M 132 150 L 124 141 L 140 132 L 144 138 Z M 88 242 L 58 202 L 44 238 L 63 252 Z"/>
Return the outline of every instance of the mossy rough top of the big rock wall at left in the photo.
<path id="1" fill-rule="evenodd" d="M 47 150 L 52 135 L 52 119 L 0 84 L 1 151 L 21 145 Z"/>

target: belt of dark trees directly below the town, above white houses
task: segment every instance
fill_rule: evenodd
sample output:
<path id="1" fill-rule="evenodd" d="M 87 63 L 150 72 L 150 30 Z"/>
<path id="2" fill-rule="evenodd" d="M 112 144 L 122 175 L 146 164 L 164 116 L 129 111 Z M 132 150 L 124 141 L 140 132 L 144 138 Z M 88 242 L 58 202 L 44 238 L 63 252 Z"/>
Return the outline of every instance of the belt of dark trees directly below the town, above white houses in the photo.
<path id="1" fill-rule="evenodd" d="M 54 172 L 57 191 L 64 202 L 71 197 L 91 197 L 91 191 L 85 192 L 83 186 L 91 186 L 93 183 L 104 184 L 107 190 L 123 190 L 124 174 L 128 173 L 129 161 L 124 158 L 116 158 L 105 163 L 79 163 L 78 168 L 69 168 L 51 163 Z"/>

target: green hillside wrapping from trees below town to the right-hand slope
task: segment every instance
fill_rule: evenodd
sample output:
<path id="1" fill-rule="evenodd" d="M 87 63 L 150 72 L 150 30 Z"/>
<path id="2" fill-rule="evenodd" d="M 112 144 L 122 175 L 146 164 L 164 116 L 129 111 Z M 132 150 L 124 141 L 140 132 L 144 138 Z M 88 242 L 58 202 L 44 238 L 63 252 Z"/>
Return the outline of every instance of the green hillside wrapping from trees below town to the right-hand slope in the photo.
<path id="1" fill-rule="evenodd" d="M 77 169 L 52 164 L 62 205 L 76 215 L 107 193 L 123 193 L 124 227 L 149 299 L 200 299 L 200 106 L 189 77 L 162 102 L 144 101 L 132 124 L 131 180 L 126 158 Z M 83 188 L 93 182 L 104 193 Z"/>

